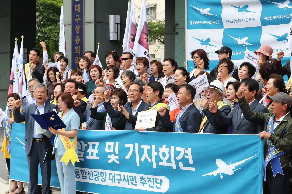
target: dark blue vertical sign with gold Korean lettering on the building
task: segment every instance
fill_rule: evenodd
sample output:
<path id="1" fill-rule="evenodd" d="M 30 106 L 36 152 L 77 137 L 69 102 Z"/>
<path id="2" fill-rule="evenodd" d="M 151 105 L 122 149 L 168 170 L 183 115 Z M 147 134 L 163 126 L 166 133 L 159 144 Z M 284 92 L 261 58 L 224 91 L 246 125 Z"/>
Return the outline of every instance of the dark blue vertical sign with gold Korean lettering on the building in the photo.
<path id="1" fill-rule="evenodd" d="M 72 0 L 72 69 L 84 52 L 84 0 Z"/>

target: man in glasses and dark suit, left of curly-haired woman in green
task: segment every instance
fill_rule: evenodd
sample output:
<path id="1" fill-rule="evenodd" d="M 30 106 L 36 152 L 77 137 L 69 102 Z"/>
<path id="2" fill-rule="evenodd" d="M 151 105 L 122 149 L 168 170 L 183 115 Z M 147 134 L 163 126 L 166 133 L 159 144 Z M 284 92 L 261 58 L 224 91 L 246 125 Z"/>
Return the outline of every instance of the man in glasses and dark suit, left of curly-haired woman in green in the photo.
<path id="1" fill-rule="evenodd" d="M 93 92 L 93 99 L 94 99 L 94 102 L 98 103 L 98 106 L 104 104 L 103 94 L 106 90 L 107 90 L 106 86 L 101 85 L 101 84 L 96 85 L 96 88 L 94 89 L 94 92 Z M 98 96 L 101 99 L 99 99 Z M 104 130 L 103 120 L 89 119 L 91 115 L 91 110 L 90 110 L 91 108 L 92 108 L 92 105 L 90 105 L 88 109 L 82 113 L 82 116 L 81 116 L 82 123 L 86 122 L 86 130 Z M 100 112 L 104 112 L 104 111 L 105 109 L 101 110 Z"/>

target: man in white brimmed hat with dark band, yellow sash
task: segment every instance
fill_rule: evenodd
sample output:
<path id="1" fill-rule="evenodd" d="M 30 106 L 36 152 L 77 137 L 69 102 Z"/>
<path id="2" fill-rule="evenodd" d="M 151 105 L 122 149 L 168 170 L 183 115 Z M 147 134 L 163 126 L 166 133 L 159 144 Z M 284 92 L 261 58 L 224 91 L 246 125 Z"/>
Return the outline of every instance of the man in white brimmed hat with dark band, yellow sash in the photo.
<path id="1" fill-rule="evenodd" d="M 222 101 L 224 98 L 224 85 L 218 80 L 214 80 L 210 83 L 208 87 L 205 87 L 206 91 L 206 100 L 201 102 L 201 107 L 203 108 L 203 120 L 200 125 L 199 133 L 219 133 L 227 134 L 228 126 L 218 125 L 213 122 L 213 115 L 209 112 L 209 104 L 216 103 L 218 104 L 219 111 L 222 115 L 228 115 L 231 112 L 231 108 L 225 102 Z"/>

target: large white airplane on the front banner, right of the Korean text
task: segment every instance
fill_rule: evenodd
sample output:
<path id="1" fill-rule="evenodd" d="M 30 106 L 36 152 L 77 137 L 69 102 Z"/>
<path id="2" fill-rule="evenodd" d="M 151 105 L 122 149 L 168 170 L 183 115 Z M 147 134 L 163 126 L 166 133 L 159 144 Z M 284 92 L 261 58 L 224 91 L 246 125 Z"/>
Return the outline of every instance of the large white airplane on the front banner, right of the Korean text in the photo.
<path id="1" fill-rule="evenodd" d="M 254 156 L 252 156 L 254 157 Z M 210 172 L 208 174 L 205 174 L 205 175 L 201 175 L 201 176 L 206 176 L 206 175 L 214 175 L 216 176 L 218 173 L 220 174 L 220 178 L 223 179 L 223 176 L 222 176 L 222 173 L 223 174 L 227 174 L 227 175 L 233 175 L 235 171 L 241 169 L 236 169 L 236 170 L 233 170 L 235 169 L 236 166 L 238 165 L 241 165 L 242 163 L 244 163 L 245 161 L 251 159 L 252 157 L 249 157 L 247 159 L 244 159 L 242 161 L 239 161 L 239 162 L 235 162 L 234 164 L 232 164 L 232 161 L 230 161 L 230 164 L 227 165 L 225 162 L 223 162 L 221 159 L 216 159 L 216 165 L 219 167 L 217 170 L 214 170 L 213 172 Z"/>

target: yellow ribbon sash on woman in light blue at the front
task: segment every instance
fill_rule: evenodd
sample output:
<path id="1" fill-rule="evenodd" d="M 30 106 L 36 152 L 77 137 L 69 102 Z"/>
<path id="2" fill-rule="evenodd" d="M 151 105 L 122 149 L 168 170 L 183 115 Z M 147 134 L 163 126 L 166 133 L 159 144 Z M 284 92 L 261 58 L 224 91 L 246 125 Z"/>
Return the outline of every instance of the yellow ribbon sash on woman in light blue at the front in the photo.
<path id="1" fill-rule="evenodd" d="M 65 129 L 59 129 L 60 131 L 65 131 Z M 59 135 L 61 138 L 61 141 L 66 149 L 66 152 L 64 153 L 63 157 L 61 158 L 60 162 L 64 161 L 66 166 L 68 162 L 71 160 L 72 164 L 74 165 L 75 162 L 80 162 L 78 159 L 78 156 L 75 152 L 76 145 L 77 145 L 77 137 L 74 137 L 73 141 L 71 142 L 69 137 L 65 137 L 62 135 Z"/>

